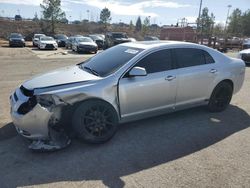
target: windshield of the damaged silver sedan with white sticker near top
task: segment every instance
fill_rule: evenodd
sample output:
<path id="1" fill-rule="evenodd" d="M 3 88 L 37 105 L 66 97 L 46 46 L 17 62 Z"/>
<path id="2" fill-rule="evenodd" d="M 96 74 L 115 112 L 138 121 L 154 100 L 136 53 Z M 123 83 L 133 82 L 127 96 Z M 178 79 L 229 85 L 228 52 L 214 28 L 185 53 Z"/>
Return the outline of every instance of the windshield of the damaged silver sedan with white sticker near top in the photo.
<path id="1" fill-rule="evenodd" d="M 80 64 L 82 69 L 91 69 L 101 77 L 108 76 L 126 64 L 143 49 L 115 46 Z"/>

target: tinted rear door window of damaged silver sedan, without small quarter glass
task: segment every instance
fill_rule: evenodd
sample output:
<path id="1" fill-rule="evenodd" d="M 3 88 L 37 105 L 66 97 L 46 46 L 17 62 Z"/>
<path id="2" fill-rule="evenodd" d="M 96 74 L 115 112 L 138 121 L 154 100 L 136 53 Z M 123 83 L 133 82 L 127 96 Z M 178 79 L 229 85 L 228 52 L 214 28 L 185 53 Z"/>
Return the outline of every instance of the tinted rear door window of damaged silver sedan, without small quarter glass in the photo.
<path id="1" fill-rule="evenodd" d="M 206 64 L 203 50 L 194 48 L 178 48 L 174 51 L 179 68 Z"/>

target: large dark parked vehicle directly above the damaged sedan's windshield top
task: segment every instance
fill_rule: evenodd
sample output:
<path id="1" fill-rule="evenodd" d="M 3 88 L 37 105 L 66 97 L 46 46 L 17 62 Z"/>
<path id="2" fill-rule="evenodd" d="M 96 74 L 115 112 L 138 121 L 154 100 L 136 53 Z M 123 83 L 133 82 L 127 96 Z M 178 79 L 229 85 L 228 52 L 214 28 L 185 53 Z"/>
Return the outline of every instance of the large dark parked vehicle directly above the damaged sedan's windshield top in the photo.
<path id="1" fill-rule="evenodd" d="M 123 32 L 109 32 L 105 35 L 105 48 L 110 48 L 117 44 L 130 42 L 126 33 Z"/>

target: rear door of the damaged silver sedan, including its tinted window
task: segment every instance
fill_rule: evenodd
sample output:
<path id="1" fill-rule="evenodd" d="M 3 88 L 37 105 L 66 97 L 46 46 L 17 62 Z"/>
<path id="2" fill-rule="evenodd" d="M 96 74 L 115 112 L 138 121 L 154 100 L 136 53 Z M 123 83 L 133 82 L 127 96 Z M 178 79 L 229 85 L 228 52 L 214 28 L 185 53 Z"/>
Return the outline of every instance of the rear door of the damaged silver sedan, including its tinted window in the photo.
<path id="1" fill-rule="evenodd" d="M 213 58 L 194 48 L 175 49 L 174 56 L 179 66 L 176 107 L 204 102 L 218 73 Z"/>

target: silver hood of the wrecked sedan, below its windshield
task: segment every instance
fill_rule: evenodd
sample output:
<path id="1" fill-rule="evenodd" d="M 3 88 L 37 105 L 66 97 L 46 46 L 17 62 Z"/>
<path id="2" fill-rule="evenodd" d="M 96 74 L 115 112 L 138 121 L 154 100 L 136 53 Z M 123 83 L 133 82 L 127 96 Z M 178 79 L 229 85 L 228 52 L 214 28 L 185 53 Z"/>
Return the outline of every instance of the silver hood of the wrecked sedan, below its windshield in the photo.
<path id="1" fill-rule="evenodd" d="M 45 74 L 33 77 L 32 79 L 23 83 L 26 89 L 32 90 L 36 88 L 44 88 L 51 86 L 58 86 L 62 84 L 69 84 L 75 82 L 83 82 L 90 80 L 98 80 L 100 77 L 92 75 L 79 66 L 64 67 Z"/>

